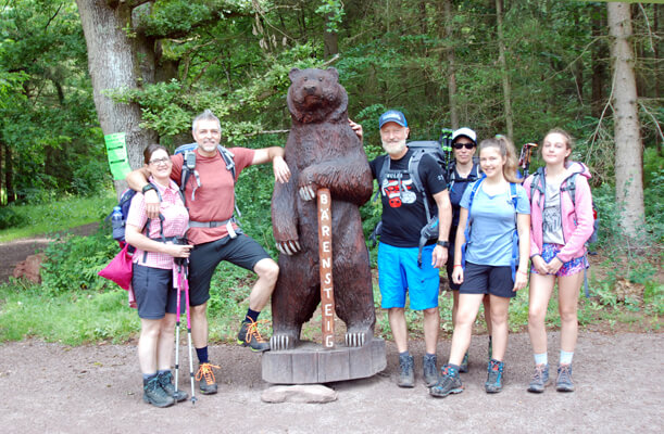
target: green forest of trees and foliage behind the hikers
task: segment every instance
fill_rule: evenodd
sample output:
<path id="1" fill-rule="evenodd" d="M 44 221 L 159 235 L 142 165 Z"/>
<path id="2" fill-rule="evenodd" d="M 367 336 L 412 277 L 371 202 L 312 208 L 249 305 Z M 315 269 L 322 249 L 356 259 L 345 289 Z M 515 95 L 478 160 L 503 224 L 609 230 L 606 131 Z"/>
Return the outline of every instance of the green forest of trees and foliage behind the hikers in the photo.
<path id="1" fill-rule="evenodd" d="M 617 4 L 621 20 L 611 12 Z M 1 0 L 0 230 L 34 225 L 45 216 L 27 209 L 70 197 L 92 197 L 90 219 L 100 221 L 113 189 L 123 189 L 111 179 L 104 135 L 126 133 L 136 168 L 150 142 L 172 150 L 190 142 L 192 117 L 211 108 L 225 144 L 284 145 L 288 72 L 334 66 L 369 158 L 381 153 L 377 118 L 387 108 L 405 113 L 412 139 L 469 126 L 479 138 L 506 133 L 518 149 L 553 127 L 572 132 L 573 157 L 593 175 L 596 250 L 609 270 L 593 277 L 599 298 L 589 315 L 623 303 L 649 309 L 659 329 L 663 9 L 554 0 Z M 631 95 L 623 94 L 621 64 L 634 74 Z M 624 101 L 634 114 L 622 112 Z M 531 170 L 538 165 L 536 154 Z M 238 202 L 245 230 L 276 257 L 266 218 L 272 189 L 268 165 L 251 167 Z M 362 215 L 368 234 L 379 203 Z M 39 291 L 67 299 L 87 291 L 99 306 L 122 299 L 96 276 L 116 252 L 108 232 L 66 240 L 47 248 Z M 212 312 L 237 309 L 250 284 L 250 276 L 222 268 L 214 290 L 224 296 L 213 296 Z M 621 296 L 621 285 L 640 290 Z M 18 288 L 37 291 L 16 281 L 1 286 L 5 318 Z M 82 339 L 115 337 L 109 328 Z M 22 330 L 14 337 L 29 334 Z"/>

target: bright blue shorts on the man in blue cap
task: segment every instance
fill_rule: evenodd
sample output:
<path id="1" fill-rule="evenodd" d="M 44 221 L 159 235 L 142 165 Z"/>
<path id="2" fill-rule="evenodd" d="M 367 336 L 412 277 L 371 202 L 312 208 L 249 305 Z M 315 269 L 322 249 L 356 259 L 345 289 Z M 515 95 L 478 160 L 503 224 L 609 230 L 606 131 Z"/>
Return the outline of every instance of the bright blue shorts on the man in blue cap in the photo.
<path id="1" fill-rule="evenodd" d="M 405 307 L 405 293 L 409 293 L 413 310 L 438 307 L 440 276 L 438 268 L 431 266 L 434 245 L 422 251 L 422 268 L 417 267 L 417 247 L 394 247 L 378 244 L 378 284 L 380 286 L 380 307 Z"/>

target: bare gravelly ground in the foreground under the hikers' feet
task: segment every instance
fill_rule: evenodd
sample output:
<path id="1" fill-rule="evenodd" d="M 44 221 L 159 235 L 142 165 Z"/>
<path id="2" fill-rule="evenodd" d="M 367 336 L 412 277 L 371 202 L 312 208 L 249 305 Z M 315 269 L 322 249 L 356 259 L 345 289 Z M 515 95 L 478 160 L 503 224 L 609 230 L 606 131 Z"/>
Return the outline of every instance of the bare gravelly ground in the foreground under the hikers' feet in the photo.
<path id="1" fill-rule="evenodd" d="M 551 333 L 551 348 L 559 335 Z M 325 405 L 264 404 L 260 355 L 213 346 L 222 367 L 220 393 L 167 409 L 141 400 L 140 372 L 131 345 L 64 347 L 37 341 L 0 345 L 3 432 L 12 433 L 397 433 L 563 432 L 659 433 L 664 417 L 664 335 L 581 333 L 575 356 L 577 391 L 548 387 L 529 394 L 531 355 L 526 334 L 511 336 L 505 388 L 484 392 L 486 336 L 471 348 L 465 392 L 444 399 L 394 385 L 397 355 L 388 344 L 388 368 L 365 380 L 330 384 L 338 400 Z M 438 348 L 448 355 L 450 342 Z M 411 350 L 421 370 L 423 343 Z M 555 352 L 549 353 L 555 360 Z M 184 366 L 188 366 L 186 359 Z M 186 368 L 187 369 L 187 368 Z M 189 391 L 188 378 L 180 387 Z M 418 374 L 417 381 L 421 381 Z"/>

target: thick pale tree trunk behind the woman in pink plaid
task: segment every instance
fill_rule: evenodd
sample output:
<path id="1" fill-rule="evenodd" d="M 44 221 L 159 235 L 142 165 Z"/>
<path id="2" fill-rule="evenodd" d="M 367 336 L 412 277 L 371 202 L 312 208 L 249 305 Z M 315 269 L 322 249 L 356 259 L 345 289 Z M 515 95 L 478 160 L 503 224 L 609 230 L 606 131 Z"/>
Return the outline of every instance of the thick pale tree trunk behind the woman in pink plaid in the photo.
<path id="1" fill-rule="evenodd" d="M 141 72 L 150 75 L 152 71 L 153 77 L 153 67 L 145 62 L 154 58 L 141 56 L 142 65 L 137 61 L 138 42 L 127 36 L 127 28 L 131 28 L 131 9 L 125 2 L 115 2 L 115 7 L 110 7 L 107 0 L 76 0 L 76 3 L 88 48 L 88 68 L 101 129 L 104 136 L 126 133 L 129 165 L 136 169 L 143 164 L 143 149 L 155 142 L 158 136 L 139 127 L 138 104 L 115 103 L 103 91 L 137 88 L 139 78 L 143 78 Z M 146 50 L 140 52 L 145 55 Z M 123 182 L 115 182 L 116 191 L 121 191 Z"/>

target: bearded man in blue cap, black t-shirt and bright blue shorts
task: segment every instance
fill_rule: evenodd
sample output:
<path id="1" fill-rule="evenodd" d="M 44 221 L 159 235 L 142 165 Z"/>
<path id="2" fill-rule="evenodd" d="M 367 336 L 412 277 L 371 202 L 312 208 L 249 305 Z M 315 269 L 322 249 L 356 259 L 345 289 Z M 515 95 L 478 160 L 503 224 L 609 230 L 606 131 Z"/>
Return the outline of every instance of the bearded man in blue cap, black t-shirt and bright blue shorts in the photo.
<path id="1" fill-rule="evenodd" d="M 387 155 L 369 163 L 374 178 L 389 158 L 387 170 L 380 177 L 378 189 L 383 202 L 383 228 L 378 246 L 378 280 L 380 305 L 388 309 L 388 318 L 399 350 L 401 387 L 414 386 L 413 356 L 408 349 L 405 295 L 410 307 L 424 314 L 424 382 L 436 384 L 436 345 L 440 316 L 438 312 L 439 268 L 448 259 L 448 234 L 452 207 L 442 168 L 428 154 L 418 165 L 419 179 L 425 192 L 417 191 L 408 171 L 413 154 L 406 145 L 410 129 L 403 113 L 390 110 L 379 119 L 380 140 Z M 352 125 L 352 124 L 351 124 Z M 360 132 L 361 133 L 361 132 Z M 417 265 L 419 231 L 427 224 L 424 201 L 439 217 L 438 241 L 431 241 L 422 253 L 422 267 Z"/>

